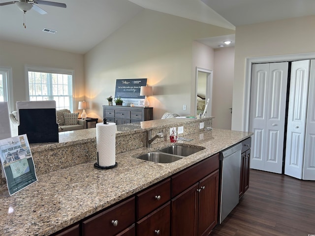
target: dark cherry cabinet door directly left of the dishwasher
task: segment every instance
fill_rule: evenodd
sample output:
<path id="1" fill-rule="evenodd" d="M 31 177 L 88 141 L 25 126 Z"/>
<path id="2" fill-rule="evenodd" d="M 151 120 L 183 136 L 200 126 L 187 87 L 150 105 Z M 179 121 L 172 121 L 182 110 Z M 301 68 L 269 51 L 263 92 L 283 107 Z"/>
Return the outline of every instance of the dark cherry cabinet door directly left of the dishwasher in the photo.
<path id="1" fill-rule="evenodd" d="M 198 236 L 207 236 L 218 223 L 219 170 L 200 181 Z"/>

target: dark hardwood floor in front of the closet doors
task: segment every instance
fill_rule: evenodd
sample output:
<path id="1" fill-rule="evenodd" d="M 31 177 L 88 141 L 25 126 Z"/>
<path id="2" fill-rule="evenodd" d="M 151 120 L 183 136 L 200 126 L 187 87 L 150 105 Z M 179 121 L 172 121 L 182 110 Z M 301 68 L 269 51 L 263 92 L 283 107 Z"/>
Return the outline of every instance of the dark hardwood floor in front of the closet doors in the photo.
<path id="1" fill-rule="evenodd" d="M 251 170 L 250 188 L 211 236 L 315 235 L 315 181 Z"/>

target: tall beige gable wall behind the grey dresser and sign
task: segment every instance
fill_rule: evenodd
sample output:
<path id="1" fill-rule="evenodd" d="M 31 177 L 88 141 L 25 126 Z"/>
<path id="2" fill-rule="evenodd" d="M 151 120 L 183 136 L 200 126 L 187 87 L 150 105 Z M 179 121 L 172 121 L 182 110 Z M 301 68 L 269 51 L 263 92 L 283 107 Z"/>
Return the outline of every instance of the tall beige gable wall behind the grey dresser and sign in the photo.
<path id="1" fill-rule="evenodd" d="M 189 115 L 197 64 L 193 40 L 233 32 L 157 11 L 141 11 L 85 55 L 86 100 L 93 101 L 88 116 L 102 118 L 106 97 L 114 95 L 116 79 L 123 78 L 148 79 L 153 86 L 154 96 L 149 101 L 155 119 L 166 111 Z M 187 111 L 183 111 L 184 104 Z"/>

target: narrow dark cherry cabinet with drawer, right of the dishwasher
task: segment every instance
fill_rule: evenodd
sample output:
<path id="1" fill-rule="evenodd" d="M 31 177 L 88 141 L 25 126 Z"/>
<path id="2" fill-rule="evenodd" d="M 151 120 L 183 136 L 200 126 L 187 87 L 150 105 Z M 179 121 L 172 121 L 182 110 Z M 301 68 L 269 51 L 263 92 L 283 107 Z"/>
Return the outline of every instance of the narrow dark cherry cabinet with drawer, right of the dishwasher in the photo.
<path id="1" fill-rule="evenodd" d="M 250 186 L 251 142 L 251 137 L 242 142 L 239 198 L 244 195 Z"/>

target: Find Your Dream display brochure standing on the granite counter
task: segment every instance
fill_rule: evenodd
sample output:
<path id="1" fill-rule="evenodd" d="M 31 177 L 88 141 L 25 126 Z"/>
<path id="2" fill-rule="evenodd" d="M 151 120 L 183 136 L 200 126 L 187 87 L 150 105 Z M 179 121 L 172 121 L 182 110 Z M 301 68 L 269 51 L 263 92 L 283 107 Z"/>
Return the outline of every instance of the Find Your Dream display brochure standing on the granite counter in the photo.
<path id="1" fill-rule="evenodd" d="M 37 181 L 26 134 L 0 140 L 0 158 L 10 196 Z"/>

